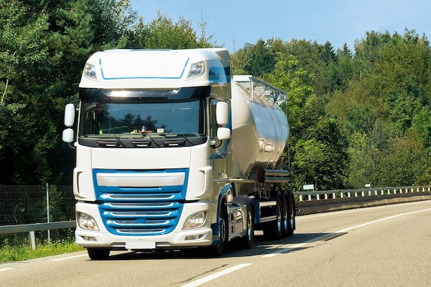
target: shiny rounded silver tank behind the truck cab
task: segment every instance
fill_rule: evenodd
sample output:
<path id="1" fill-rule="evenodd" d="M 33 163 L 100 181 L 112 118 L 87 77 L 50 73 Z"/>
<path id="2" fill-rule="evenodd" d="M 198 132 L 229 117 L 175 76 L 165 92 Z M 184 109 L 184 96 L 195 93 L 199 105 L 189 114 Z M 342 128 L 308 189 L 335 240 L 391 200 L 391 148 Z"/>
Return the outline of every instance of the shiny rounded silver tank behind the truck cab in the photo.
<path id="1" fill-rule="evenodd" d="M 273 97 L 231 83 L 233 176 L 247 178 L 274 169 L 289 135 L 287 118 Z"/>

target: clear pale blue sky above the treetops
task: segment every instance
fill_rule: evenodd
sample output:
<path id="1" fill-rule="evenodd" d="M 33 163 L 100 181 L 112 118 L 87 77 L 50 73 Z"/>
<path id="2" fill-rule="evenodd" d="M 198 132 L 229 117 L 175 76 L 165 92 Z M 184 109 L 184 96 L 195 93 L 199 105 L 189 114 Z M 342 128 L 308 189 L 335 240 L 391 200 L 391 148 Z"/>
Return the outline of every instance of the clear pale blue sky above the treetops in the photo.
<path id="1" fill-rule="evenodd" d="M 367 31 L 403 34 L 405 28 L 425 34 L 431 40 L 429 0 L 131 0 L 144 22 L 156 19 L 160 11 L 174 22 L 184 17 L 198 34 L 199 23 L 207 22 L 212 41 L 233 50 L 272 37 L 282 41 L 306 39 L 333 47 L 355 40 Z M 202 11 L 202 14 L 201 14 Z M 234 43 L 235 42 L 235 43 Z"/>

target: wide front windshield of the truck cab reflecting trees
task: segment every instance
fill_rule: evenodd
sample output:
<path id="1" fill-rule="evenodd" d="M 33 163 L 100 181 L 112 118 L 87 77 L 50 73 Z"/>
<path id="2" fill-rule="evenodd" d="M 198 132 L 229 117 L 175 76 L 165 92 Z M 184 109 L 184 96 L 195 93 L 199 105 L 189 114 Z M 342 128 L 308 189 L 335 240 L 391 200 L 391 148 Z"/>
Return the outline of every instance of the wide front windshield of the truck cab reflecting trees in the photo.
<path id="1" fill-rule="evenodd" d="M 204 98 L 83 100 L 80 138 L 193 138 L 206 136 Z"/>

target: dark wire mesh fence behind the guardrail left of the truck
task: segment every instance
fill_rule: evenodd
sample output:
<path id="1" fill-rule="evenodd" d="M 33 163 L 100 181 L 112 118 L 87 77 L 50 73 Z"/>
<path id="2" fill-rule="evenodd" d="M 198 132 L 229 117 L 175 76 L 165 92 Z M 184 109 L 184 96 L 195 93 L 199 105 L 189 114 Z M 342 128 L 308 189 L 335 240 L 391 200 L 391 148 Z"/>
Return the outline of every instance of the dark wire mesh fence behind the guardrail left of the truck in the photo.
<path id="1" fill-rule="evenodd" d="M 55 185 L 0 185 L 0 226 L 75 220 L 72 187 Z M 36 231 L 36 242 L 73 240 L 74 228 Z M 28 233 L 0 235 L 0 248 L 30 242 Z"/>

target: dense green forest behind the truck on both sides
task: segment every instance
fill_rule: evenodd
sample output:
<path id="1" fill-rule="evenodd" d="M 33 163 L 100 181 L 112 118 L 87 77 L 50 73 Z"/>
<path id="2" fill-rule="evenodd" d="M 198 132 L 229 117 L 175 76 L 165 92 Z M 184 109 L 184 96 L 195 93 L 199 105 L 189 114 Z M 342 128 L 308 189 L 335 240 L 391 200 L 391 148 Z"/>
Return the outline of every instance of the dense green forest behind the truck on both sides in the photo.
<path id="1" fill-rule="evenodd" d="M 146 23 L 129 2 L 0 0 L 0 184 L 72 184 L 63 113 L 92 53 L 223 46 L 208 23 L 196 31 L 162 11 Z M 364 32 L 351 48 L 271 38 L 231 53 L 232 74 L 288 93 L 295 191 L 431 184 L 430 43 L 415 30 Z"/>

